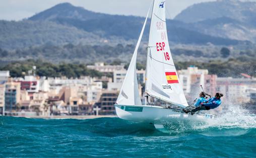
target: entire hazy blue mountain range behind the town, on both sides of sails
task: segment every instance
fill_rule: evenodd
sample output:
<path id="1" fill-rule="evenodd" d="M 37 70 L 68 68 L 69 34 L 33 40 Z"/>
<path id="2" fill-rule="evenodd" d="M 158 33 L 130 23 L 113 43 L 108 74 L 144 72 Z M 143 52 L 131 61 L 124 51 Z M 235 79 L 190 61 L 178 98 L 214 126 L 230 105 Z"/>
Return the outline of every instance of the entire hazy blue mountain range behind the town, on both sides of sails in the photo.
<path id="1" fill-rule="evenodd" d="M 167 20 L 174 59 L 222 60 L 222 47 L 230 48 L 228 57 L 251 55 L 256 41 L 254 5 L 227 0 L 201 3 L 187 8 L 174 20 Z M 27 59 L 129 62 L 144 20 L 95 13 L 64 3 L 23 21 L 0 21 L 0 64 Z M 140 61 L 145 60 L 148 34 L 149 25 L 140 48 Z"/>

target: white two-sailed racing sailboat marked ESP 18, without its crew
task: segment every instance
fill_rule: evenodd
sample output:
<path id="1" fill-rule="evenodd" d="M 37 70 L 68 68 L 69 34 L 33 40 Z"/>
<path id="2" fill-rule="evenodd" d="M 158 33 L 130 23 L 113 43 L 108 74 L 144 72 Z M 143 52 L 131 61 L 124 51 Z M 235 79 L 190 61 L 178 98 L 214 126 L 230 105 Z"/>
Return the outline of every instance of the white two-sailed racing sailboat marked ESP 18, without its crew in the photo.
<path id="1" fill-rule="evenodd" d="M 162 121 L 175 119 L 205 119 L 213 118 L 211 114 L 186 114 L 182 108 L 188 106 L 182 85 L 172 60 L 165 18 L 165 1 L 154 0 L 151 16 L 146 84 L 145 103 L 142 104 L 136 73 L 138 48 L 144 33 L 150 9 L 146 16 L 139 40 L 132 60 L 125 75 L 122 87 L 115 104 L 119 118 L 134 122 L 154 124 L 156 128 L 163 128 Z M 148 98 L 164 102 L 168 106 L 156 106 L 148 103 Z"/>

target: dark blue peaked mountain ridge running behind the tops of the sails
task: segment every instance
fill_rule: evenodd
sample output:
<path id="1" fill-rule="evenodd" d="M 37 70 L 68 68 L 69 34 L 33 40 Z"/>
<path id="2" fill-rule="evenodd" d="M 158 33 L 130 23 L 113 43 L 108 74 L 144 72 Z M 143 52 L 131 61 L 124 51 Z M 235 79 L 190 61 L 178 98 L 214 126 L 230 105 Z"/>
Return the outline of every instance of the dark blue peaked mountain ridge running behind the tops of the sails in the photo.
<path id="1" fill-rule="evenodd" d="M 122 37 L 125 40 L 137 40 L 145 18 L 94 13 L 64 3 L 43 11 L 29 20 L 52 21 L 61 25 L 73 26 L 104 38 Z M 216 38 L 195 30 L 191 31 L 184 28 L 185 25 L 182 22 L 168 20 L 169 40 L 184 44 L 236 45 L 239 43 L 237 40 Z M 149 25 L 145 30 L 145 39 L 148 38 L 148 33 Z"/>

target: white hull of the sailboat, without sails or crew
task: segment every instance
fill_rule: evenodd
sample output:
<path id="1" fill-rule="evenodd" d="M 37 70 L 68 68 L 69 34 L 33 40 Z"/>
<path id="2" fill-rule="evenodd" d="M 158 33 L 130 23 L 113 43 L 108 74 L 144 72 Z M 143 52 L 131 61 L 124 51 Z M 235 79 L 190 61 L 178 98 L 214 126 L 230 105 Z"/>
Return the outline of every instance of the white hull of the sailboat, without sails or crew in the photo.
<path id="1" fill-rule="evenodd" d="M 159 124 L 161 121 L 171 121 L 172 119 L 205 120 L 214 118 L 214 115 L 211 114 L 190 115 L 180 112 L 180 110 L 151 105 L 115 105 L 115 111 L 121 119 L 153 124 Z"/>

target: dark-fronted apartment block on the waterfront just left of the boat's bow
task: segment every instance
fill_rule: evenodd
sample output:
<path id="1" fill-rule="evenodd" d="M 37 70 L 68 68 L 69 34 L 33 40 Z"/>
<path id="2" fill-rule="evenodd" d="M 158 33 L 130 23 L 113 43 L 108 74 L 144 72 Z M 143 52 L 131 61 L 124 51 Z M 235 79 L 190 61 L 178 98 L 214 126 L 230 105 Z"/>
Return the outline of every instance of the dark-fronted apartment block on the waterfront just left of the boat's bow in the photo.
<path id="1" fill-rule="evenodd" d="M 102 91 L 102 95 L 100 98 L 100 115 L 111 115 L 115 114 L 115 107 L 114 104 L 116 102 L 116 99 L 118 97 L 117 91 L 109 91 L 104 90 Z"/>

